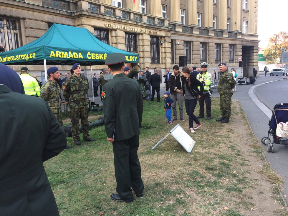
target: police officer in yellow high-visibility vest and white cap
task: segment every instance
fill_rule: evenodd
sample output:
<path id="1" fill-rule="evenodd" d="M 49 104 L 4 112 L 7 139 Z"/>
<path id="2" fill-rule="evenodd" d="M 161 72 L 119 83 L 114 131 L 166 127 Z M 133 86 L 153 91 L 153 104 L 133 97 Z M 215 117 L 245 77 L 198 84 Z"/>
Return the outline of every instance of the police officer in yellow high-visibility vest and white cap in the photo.
<path id="1" fill-rule="evenodd" d="M 208 63 L 203 62 L 201 65 L 201 71 L 197 74 L 197 79 L 204 85 L 204 91 L 202 97 L 199 98 L 199 115 L 197 118 L 204 118 L 204 102 L 206 104 L 206 120 L 211 119 L 211 93 L 209 92 L 212 76 L 207 72 Z M 200 90 L 200 87 L 198 87 Z"/>

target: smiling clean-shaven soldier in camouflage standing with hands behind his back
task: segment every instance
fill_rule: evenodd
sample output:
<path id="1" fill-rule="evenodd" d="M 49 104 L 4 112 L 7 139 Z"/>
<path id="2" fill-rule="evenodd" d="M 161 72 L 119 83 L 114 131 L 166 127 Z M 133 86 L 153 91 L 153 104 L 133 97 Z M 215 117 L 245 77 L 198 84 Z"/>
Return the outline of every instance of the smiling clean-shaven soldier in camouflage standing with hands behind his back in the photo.
<path id="1" fill-rule="evenodd" d="M 73 75 L 68 77 L 62 83 L 63 95 L 67 102 L 69 102 L 70 119 L 72 122 L 72 137 L 76 145 L 80 145 L 79 136 L 79 119 L 82 123 L 83 139 L 86 141 L 94 141 L 89 137 L 88 131 L 88 101 L 86 94 L 89 89 L 89 82 L 87 77 L 81 74 L 81 67 L 79 63 L 73 64 Z"/>

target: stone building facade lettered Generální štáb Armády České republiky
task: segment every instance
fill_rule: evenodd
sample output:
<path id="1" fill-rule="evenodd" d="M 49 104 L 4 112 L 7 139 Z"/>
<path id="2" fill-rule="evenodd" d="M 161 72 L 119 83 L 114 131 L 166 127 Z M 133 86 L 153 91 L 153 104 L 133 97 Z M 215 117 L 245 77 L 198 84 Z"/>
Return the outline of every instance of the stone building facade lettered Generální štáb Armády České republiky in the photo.
<path id="1" fill-rule="evenodd" d="M 257 2 L 1 0 L 0 46 L 9 51 L 28 44 L 57 23 L 87 28 L 111 46 L 138 53 L 143 69 L 156 67 L 163 74 L 186 56 L 187 67 L 200 67 L 201 62 L 207 62 L 208 71 L 213 72 L 219 69 L 220 62 L 237 69 L 241 58 L 242 76 L 249 77 L 253 67 L 258 67 Z M 11 67 L 19 72 L 22 66 Z M 62 72 L 71 68 L 57 67 Z M 92 73 L 103 68 L 105 65 L 92 66 Z M 29 66 L 32 74 L 43 69 Z M 91 73 L 90 66 L 86 69 Z M 240 75 L 239 68 L 237 74 Z"/>

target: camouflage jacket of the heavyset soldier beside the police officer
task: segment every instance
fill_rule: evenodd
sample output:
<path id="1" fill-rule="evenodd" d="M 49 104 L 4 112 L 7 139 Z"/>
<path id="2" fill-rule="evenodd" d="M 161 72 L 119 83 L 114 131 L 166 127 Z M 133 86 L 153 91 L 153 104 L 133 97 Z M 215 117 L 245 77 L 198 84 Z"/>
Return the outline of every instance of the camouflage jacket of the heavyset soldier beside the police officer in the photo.
<path id="1" fill-rule="evenodd" d="M 233 74 L 229 70 L 226 70 L 221 74 L 218 81 L 219 94 L 233 94 L 232 89 L 235 87 L 235 84 Z"/>

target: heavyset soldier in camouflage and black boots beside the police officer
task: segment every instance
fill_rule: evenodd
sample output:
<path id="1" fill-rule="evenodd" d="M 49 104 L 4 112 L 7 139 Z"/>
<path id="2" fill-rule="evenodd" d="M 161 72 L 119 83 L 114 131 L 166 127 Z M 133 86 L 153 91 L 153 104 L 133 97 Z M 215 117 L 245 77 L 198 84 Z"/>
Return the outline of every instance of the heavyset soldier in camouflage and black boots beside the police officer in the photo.
<path id="1" fill-rule="evenodd" d="M 220 63 L 218 66 L 222 73 L 218 81 L 218 92 L 220 94 L 220 110 L 222 117 L 216 119 L 216 122 L 228 123 L 231 116 L 232 89 L 235 87 L 236 82 L 233 74 L 227 69 L 226 63 Z"/>

